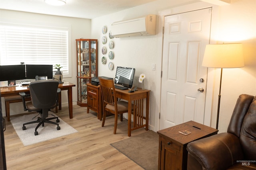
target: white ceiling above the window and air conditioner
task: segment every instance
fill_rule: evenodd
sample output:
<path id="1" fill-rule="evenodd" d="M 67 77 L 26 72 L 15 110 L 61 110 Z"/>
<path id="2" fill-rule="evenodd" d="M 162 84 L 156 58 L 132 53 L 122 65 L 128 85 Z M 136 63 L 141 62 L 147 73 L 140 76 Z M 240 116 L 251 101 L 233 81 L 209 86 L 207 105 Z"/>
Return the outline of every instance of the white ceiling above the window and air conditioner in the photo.
<path id="1" fill-rule="evenodd" d="M 93 19 L 153 1 L 166 1 L 170 7 L 195 0 L 66 0 L 65 6 L 50 6 L 44 0 L 0 0 L 0 9 Z"/>

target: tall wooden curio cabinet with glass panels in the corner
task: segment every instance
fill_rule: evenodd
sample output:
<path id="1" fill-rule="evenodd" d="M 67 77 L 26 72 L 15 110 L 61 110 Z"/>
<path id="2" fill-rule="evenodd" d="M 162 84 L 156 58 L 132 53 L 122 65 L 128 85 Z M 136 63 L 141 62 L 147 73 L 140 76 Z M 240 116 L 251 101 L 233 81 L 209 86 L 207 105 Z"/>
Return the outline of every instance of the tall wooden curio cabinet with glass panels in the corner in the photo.
<path id="1" fill-rule="evenodd" d="M 77 104 L 87 106 L 87 85 L 98 76 L 98 40 L 76 39 L 77 50 Z"/>

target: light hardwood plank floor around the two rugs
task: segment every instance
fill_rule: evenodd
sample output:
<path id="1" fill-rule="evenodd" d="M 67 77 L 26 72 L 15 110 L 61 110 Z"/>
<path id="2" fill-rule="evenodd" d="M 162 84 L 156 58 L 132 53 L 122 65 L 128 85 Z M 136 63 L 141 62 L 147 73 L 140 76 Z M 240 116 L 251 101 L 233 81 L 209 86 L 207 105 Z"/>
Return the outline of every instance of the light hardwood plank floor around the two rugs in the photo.
<path id="1" fill-rule="evenodd" d="M 6 122 L 4 142 L 8 170 L 142 170 L 110 145 L 128 138 L 126 119 L 123 122 L 118 119 L 114 135 L 113 116 L 107 117 L 105 126 L 101 127 L 102 121 L 94 111 L 86 113 L 86 107 L 73 106 L 73 119 L 69 119 L 68 107 L 62 107 L 56 115 L 78 133 L 24 147 L 11 123 Z M 144 128 L 137 129 L 132 131 L 132 136 L 144 132 Z"/>

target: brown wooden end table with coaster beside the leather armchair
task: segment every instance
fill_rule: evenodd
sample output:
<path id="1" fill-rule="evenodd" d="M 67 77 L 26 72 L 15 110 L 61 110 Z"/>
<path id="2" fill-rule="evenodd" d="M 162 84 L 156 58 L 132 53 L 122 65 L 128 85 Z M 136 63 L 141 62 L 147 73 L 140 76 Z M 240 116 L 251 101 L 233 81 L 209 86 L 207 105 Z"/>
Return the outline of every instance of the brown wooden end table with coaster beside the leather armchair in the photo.
<path id="1" fill-rule="evenodd" d="M 179 133 L 182 130 L 190 131 L 191 134 L 182 135 Z M 157 133 L 159 135 L 158 170 L 186 170 L 188 143 L 215 135 L 218 130 L 194 121 L 188 121 L 162 129 Z"/>

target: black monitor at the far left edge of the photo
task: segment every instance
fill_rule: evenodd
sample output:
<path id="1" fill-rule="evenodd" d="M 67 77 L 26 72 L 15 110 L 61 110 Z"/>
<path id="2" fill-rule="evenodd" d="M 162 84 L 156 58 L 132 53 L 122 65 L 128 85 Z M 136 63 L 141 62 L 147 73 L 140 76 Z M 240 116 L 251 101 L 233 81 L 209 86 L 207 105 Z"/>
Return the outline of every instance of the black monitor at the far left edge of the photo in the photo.
<path id="1" fill-rule="evenodd" d="M 25 65 L 0 66 L 0 81 L 26 79 Z"/>

